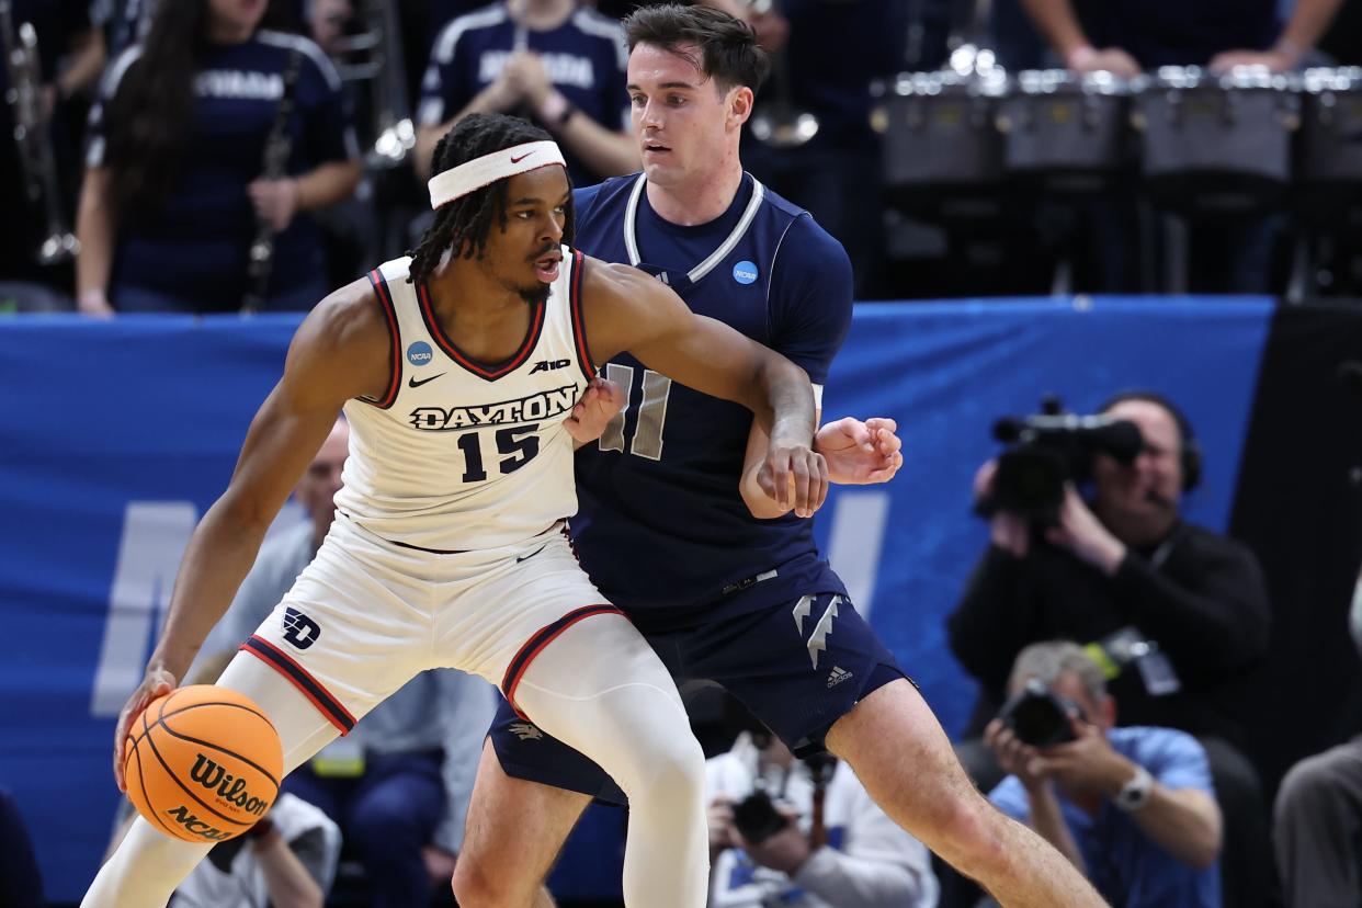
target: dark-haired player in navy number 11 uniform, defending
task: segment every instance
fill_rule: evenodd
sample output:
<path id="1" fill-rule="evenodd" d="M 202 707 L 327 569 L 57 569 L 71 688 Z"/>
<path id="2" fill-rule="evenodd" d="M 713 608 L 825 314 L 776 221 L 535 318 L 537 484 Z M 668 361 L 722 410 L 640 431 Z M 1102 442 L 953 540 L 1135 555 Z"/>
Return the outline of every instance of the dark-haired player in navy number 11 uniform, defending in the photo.
<path id="1" fill-rule="evenodd" d="M 851 271 L 806 212 L 742 170 L 738 136 L 765 69 L 750 29 L 678 5 L 639 10 L 625 26 L 643 173 L 577 193 L 577 242 L 652 272 L 819 387 L 850 321 Z M 1057 851 L 974 790 L 932 711 L 819 557 L 810 523 L 755 482 L 761 427 L 632 357 L 602 372 L 628 389 L 628 406 L 577 455 L 573 539 L 588 574 L 674 677 L 722 683 L 797 754 L 827 747 L 846 760 L 895 821 L 1004 904 L 1102 904 Z M 832 476 L 892 474 L 888 429 L 840 422 L 820 432 Z M 869 449 L 849 444 L 851 432 Z M 541 881 L 582 810 L 592 796 L 620 800 L 583 754 L 552 731 L 530 732 L 503 709 L 484 749 L 455 867 L 464 908 L 548 903 Z"/>

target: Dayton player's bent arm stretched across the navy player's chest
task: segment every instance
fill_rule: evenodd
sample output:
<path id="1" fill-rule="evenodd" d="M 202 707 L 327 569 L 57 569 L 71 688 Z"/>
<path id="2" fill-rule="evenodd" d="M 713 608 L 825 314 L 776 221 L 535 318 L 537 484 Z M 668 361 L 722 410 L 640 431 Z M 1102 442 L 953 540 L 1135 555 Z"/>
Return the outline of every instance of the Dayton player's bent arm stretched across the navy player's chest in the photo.
<path id="1" fill-rule="evenodd" d="M 733 328 L 696 316 L 642 271 L 587 261 L 583 308 L 595 361 L 628 350 L 673 381 L 752 410 L 770 437 L 760 487 L 782 512 L 817 510 L 827 497 L 827 464 L 813 451 L 813 388 L 804 370 Z"/>

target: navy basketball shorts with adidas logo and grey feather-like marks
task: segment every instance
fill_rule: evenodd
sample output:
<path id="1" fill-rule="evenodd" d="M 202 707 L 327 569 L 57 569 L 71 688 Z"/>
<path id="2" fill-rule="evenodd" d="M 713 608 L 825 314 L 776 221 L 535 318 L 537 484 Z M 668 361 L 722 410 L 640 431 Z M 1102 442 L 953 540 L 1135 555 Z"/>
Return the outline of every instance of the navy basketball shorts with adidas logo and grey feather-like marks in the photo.
<path id="1" fill-rule="evenodd" d="M 801 757 L 823 750 L 832 724 L 870 692 L 907 678 L 842 594 L 651 634 L 647 615 L 631 618 L 678 685 L 718 682 Z M 505 700 L 489 735 L 508 776 L 625 803 L 599 766 L 516 716 Z"/>

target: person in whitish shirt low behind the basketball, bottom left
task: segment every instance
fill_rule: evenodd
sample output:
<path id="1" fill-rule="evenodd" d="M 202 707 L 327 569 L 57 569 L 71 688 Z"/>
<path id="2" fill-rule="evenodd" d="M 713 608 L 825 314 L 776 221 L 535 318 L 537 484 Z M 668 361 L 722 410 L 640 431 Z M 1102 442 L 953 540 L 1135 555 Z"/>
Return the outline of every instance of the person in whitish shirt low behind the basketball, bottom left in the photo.
<path id="1" fill-rule="evenodd" d="M 188 683 L 211 685 L 234 655 L 232 649 L 214 652 Z M 136 818 L 127 799 L 121 811 L 106 860 Z M 336 825 L 312 805 L 279 792 L 260 822 L 212 847 L 207 860 L 176 888 L 166 908 L 321 908 L 339 856 Z"/>

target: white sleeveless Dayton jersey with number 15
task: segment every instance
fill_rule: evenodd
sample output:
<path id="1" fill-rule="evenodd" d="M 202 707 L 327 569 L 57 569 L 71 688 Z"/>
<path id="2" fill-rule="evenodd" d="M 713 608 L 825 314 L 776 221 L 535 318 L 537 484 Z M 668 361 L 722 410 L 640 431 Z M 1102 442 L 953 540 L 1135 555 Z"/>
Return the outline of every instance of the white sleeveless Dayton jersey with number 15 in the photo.
<path id="1" fill-rule="evenodd" d="M 392 335 L 381 399 L 345 406 L 350 457 L 336 509 L 402 546 L 513 545 L 577 510 L 563 426 L 595 373 L 582 324 L 582 253 L 563 248 L 549 298 L 511 359 L 486 365 L 445 336 L 410 259 L 369 272 Z"/>

